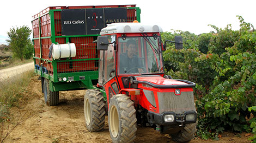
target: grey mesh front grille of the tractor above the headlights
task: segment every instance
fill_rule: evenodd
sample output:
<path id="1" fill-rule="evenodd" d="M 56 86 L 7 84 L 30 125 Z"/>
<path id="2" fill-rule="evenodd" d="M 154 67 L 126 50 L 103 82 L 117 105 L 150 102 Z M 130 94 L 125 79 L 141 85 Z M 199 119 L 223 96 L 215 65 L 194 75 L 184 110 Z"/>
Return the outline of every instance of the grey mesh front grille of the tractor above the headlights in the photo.
<path id="1" fill-rule="evenodd" d="M 194 111 L 194 96 L 193 92 L 181 92 L 180 95 L 175 95 L 173 92 L 157 93 L 159 101 L 159 112 L 175 112 L 176 114 L 185 111 Z"/>

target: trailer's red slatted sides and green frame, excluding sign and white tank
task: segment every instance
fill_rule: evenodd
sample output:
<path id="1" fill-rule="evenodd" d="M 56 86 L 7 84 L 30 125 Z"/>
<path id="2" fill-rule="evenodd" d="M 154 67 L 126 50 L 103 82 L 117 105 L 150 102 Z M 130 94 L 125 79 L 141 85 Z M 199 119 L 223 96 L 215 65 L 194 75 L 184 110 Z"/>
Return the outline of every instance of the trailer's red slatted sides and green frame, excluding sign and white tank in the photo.
<path id="1" fill-rule="evenodd" d="M 99 35 L 63 35 L 62 33 L 61 11 L 84 8 L 102 9 L 106 6 L 56 6 L 33 16 L 35 73 L 51 81 L 52 91 L 93 88 L 98 79 L 99 53 L 93 41 Z M 141 20 L 141 10 L 135 5 L 109 5 L 109 8 L 126 8 L 126 22 Z M 54 60 L 49 57 L 49 47 L 52 43 L 75 43 L 76 56 Z"/>

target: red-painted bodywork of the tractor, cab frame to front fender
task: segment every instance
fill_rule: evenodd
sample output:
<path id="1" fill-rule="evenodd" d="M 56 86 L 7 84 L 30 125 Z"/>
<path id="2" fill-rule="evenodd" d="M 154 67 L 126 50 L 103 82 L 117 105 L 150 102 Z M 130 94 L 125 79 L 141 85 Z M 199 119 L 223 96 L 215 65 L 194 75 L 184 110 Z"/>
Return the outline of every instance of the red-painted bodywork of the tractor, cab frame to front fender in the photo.
<path id="1" fill-rule="evenodd" d="M 159 33 L 148 33 L 148 36 L 153 36 L 153 35 L 157 35 L 160 36 Z M 118 41 L 118 37 L 121 37 L 122 34 L 114 34 L 117 38 L 117 47 L 119 46 L 119 41 Z M 127 37 L 136 37 L 136 36 L 143 36 L 140 33 L 132 33 L 132 34 L 126 34 Z M 110 42 L 110 41 L 109 41 Z M 162 44 L 161 44 L 162 47 Z M 141 47 L 143 49 L 143 47 Z M 112 49 L 114 50 L 114 49 Z M 161 49 L 162 50 L 162 49 Z M 154 113 L 160 113 L 159 111 L 159 100 L 157 98 L 157 93 L 175 93 L 175 89 L 179 89 L 180 93 L 182 92 L 193 92 L 192 87 L 185 87 L 185 88 L 157 88 L 157 87 L 150 87 L 147 84 L 143 84 L 143 83 L 137 83 L 136 87 L 133 87 L 132 85 L 134 85 L 134 83 L 129 83 L 129 87 L 125 87 L 124 86 L 124 82 L 123 82 L 123 78 L 124 77 L 129 77 L 129 76 L 136 76 L 136 80 L 137 81 L 142 81 L 142 82 L 149 82 L 152 83 L 153 85 L 156 86 L 175 86 L 175 85 L 188 85 L 188 83 L 186 82 L 182 82 L 182 81 L 178 81 L 178 80 L 172 80 L 172 79 L 165 79 L 164 73 L 163 73 L 163 60 L 162 60 L 162 56 L 161 56 L 161 60 L 160 63 L 157 64 L 161 64 L 161 72 L 160 73 L 154 73 L 154 74 L 148 74 L 143 76 L 143 74 L 119 74 L 119 63 L 118 63 L 118 59 L 122 58 L 122 57 L 118 57 L 118 53 L 120 51 L 117 51 L 114 54 L 114 62 L 115 62 L 115 76 L 111 79 L 108 80 L 106 83 L 103 84 L 103 87 L 105 88 L 106 94 L 107 94 L 107 102 L 109 104 L 109 100 L 111 99 L 111 97 L 115 94 L 126 94 L 128 96 L 131 97 L 131 100 L 135 103 L 135 107 L 137 107 L 138 105 L 141 105 L 144 109 L 147 109 L 148 111 L 154 112 Z M 138 54 L 139 53 L 138 51 Z M 105 57 L 105 60 L 107 61 L 107 57 Z M 147 59 L 146 59 L 147 61 Z M 146 65 L 147 67 L 147 65 Z M 107 69 L 107 63 L 105 63 L 105 67 L 103 67 L 104 69 Z M 105 74 L 105 77 L 107 76 L 107 74 Z M 127 80 L 127 82 L 130 82 L 129 80 Z M 113 85 L 117 85 L 118 87 L 118 91 L 117 89 L 114 89 Z M 152 91 L 154 93 L 154 99 L 156 102 L 156 105 L 153 106 L 151 105 L 151 103 L 148 101 L 147 97 L 145 96 L 144 90 L 149 90 Z M 179 96 L 180 94 L 176 95 Z"/>

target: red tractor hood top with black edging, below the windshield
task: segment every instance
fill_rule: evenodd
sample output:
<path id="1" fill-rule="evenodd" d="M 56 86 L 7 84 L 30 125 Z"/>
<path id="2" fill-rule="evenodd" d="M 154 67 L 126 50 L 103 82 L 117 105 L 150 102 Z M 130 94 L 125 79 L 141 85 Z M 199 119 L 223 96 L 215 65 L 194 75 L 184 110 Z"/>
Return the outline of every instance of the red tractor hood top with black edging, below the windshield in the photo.
<path id="1" fill-rule="evenodd" d="M 164 79 L 162 76 L 135 76 L 134 83 L 143 83 L 155 88 L 186 88 L 195 87 L 196 83 L 187 80 Z"/>

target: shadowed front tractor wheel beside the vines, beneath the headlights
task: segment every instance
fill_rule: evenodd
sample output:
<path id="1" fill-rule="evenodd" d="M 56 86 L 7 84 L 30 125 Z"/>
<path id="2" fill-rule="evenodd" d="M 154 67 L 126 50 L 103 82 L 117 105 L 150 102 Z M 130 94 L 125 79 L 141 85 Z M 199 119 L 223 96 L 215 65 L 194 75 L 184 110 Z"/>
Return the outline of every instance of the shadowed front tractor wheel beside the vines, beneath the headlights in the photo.
<path id="1" fill-rule="evenodd" d="M 194 124 L 186 124 L 178 133 L 170 134 L 172 140 L 176 142 L 188 142 L 194 138 L 194 133 L 197 131 L 197 122 Z"/>

